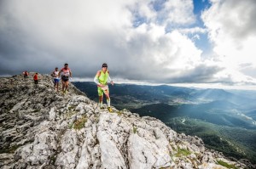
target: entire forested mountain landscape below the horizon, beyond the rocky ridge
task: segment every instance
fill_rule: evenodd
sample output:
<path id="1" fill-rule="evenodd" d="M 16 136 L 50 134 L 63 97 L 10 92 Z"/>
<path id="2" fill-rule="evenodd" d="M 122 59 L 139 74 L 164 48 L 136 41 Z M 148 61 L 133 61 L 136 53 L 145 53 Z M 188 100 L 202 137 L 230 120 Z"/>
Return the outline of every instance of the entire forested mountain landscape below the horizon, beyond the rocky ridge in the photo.
<path id="1" fill-rule="evenodd" d="M 94 82 L 73 84 L 90 99 L 98 100 Z M 109 88 L 111 102 L 119 110 L 127 109 L 142 116 L 154 116 L 168 126 L 175 127 L 177 132 L 198 135 L 212 149 L 219 140 L 225 139 L 225 142 L 220 142 L 223 148 L 215 149 L 226 155 L 254 159 L 252 161 L 256 163 L 256 92 L 133 84 L 115 84 Z M 183 122 L 181 119 L 186 120 Z M 201 132 L 198 132 L 198 127 Z M 217 132 L 212 132 L 211 127 L 216 128 Z M 244 137 L 244 134 L 252 137 Z M 209 140 L 215 140 L 216 143 Z M 227 148 L 227 143 L 232 143 L 233 146 L 230 147 L 233 149 Z M 237 147 L 242 150 L 237 150 Z"/>

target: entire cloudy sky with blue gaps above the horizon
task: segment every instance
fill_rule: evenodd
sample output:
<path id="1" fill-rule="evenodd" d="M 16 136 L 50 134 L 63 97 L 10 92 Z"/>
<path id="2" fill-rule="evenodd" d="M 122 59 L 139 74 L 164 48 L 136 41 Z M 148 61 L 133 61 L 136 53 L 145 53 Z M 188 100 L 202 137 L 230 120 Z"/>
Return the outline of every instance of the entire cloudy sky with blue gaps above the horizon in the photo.
<path id="1" fill-rule="evenodd" d="M 255 18 L 255 0 L 0 0 L 0 76 L 254 86 Z"/>

